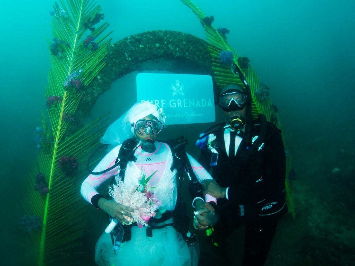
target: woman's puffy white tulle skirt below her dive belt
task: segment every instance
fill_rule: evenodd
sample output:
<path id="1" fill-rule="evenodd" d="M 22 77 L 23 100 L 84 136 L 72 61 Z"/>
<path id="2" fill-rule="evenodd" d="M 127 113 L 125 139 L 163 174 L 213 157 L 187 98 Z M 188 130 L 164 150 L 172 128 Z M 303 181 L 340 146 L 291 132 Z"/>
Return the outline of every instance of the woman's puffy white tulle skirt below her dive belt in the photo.
<path id="1" fill-rule="evenodd" d="M 174 227 L 153 229 L 147 239 L 147 227 L 133 226 L 130 241 L 121 244 L 114 256 L 110 234 L 103 233 L 96 244 L 95 261 L 100 266 L 196 266 L 198 244 L 188 246 Z"/>

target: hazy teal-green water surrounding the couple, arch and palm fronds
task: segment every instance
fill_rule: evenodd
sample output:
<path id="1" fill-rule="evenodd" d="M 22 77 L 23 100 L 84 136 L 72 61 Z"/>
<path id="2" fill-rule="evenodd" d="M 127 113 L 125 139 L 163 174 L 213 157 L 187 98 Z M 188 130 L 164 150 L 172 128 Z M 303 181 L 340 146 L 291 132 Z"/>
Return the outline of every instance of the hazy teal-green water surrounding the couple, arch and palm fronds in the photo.
<path id="1" fill-rule="evenodd" d="M 267 265 L 351 265 L 354 261 L 354 1 L 196 0 L 215 28 L 226 27 L 228 43 L 250 59 L 278 106 L 285 143 L 297 179 L 293 181 L 294 221 L 280 221 Z M 178 0 L 99 0 L 116 41 L 135 33 L 167 29 L 205 39 L 196 16 Z M 26 234 L 17 220 L 28 166 L 35 160 L 35 127 L 45 109 L 51 39 L 51 1 L 2 1 L 0 14 L 2 241 L 4 265 L 27 265 Z M 129 88 L 135 76 L 117 81 Z M 115 86 L 116 86 L 115 85 Z M 99 99 L 117 95 L 111 90 Z M 120 94 L 132 99 L 130 93 Z M 133 100 L 133 99 L 132 99 Z M 128 104 L 128 103 L 127 103 Z M 108 104 L 110 119 L 120 106 Z M 97 110 L 97 107 L 93 107 Z M 98 112 L 97 112 L 98 113 Z M 200 127 L 192 125 L 196 134 Z M 185 127 L 170 129 L 176 135 Z M 201 132 L 202 132 L 201 128 Z M 191 140 L 190 143 L 194 141 Z M 188 148 L 197 155 L 195 147 Z M 333 173 L 334 168 L 339 172 Z M 78 192 L 79 193 L 79 192 Z M 86 255 L 93 262 L 104 215 L 90 212 Z M 101 218 L 101 220 L 99 219 Z M 200 235 L 201 237 L 202 235 Z M 201 241 L 203 238 L 201 237 Z M 242 231 L 228 240 L 240 265 Z M 202 254 L 208 255 L 203 246 Z M 21 250 L 18 247 L 21 246 Z"/>

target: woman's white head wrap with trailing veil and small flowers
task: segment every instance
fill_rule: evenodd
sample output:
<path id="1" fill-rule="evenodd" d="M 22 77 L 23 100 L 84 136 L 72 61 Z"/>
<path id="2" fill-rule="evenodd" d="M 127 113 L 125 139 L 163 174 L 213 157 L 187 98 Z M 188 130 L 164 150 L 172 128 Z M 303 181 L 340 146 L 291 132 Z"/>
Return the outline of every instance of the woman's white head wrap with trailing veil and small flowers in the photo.
<path id="1" fill-rule="evenodd" d="M 162 108 L 159 108 L 159 106 L 154 105 L 149 101 L 137 102 L 130 108 L 130 110 L 108 127 L 104 136 L 100 140 L 101 143 L 116 146 L 124 142 L 126 139 L 132 138 L 134 127 L 131 125 L 148 115 L 153 115 L 157 117 L 160 122 L 163 124 L 165 123 L 166 116 Z"/>

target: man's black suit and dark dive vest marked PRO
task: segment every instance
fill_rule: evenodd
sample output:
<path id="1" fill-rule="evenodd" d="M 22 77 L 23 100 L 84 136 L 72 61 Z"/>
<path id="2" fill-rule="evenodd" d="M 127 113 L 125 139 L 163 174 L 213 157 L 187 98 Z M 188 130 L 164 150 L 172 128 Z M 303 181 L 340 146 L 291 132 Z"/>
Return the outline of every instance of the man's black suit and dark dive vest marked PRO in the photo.
<path id="1" fill-rule="evenodd" d="M 260 132 L 260 121 L 254 120 L 252 136 Z M 218 199 L 217 213 L 220 220 L 214 226 L 210 238 L 217 243 L 219 259 L 226 259 L 225 239 L 245 223 L 245 250 L 243 265 L 263 265 L 277 221 L 287 212 L 285 205 L 285 149 L 280 130 L 267 122 L 264 146 L 249 157 L 245 156 L 247 142 L 242 139 L 235 157 L 226 154 L 224 129 L 215 133 L 218 151 L 217 165 L 212 176 L 221 187 L 229 187 L 228 198 Z M 230 135 L 231 136 L 231 135 Z M 249 149 L 249 148 L 248 148 Z M 199 162 L 207 170 L 211 168 L 211 151 L 202 150 Z M 210 239 L 211 240 L 211 239 Z"/>

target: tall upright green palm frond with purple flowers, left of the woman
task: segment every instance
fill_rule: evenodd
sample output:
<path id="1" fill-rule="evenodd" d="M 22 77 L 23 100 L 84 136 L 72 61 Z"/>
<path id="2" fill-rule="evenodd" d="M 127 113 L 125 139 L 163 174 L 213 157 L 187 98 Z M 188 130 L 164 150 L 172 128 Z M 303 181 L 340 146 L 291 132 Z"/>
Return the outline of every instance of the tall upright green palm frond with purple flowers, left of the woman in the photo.
<path id="1" fill-rule="evenodd" d="M 48 113 L 43 112 L 40 149 L 29 170 L 23 203 L 27 217 L 42 221 L 41 231 L 28 234 L 35 250 L 33 265 L 78 265 L 80 259 L 87 210 L 80 185 L 87 175 L 84 162 L 103 134 L 104 118 L 75 133 L 71 133 L 71 120 L 84 88 L 105 65 L 110 33 L 103 34 L 107 22 L 94 28 L 103 19 L 100 11 L 92 0 L 54 4 L 51 68 L 45 93 Z"/>

